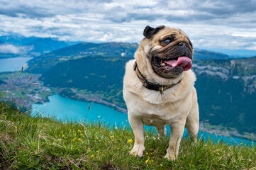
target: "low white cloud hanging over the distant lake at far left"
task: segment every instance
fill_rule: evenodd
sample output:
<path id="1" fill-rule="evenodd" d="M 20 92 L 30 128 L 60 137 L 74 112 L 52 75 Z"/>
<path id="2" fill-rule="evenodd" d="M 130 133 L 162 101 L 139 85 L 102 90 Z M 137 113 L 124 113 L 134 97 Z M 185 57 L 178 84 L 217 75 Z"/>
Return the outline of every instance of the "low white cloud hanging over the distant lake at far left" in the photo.
<path id="1" fill-rule="evenodd" d="M 0 45 L 0 53 L 4 54 L 26 54 L 30 50 L 33 50 L 33 46 Z"/>

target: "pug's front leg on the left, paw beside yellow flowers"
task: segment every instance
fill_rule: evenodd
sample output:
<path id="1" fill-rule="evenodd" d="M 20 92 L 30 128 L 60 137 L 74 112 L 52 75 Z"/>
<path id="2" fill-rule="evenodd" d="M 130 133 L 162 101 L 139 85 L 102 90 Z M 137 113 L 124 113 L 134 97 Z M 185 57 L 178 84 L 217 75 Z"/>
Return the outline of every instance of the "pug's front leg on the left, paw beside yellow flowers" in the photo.
<path id="1" fill-rule="evenodd" d="M 143 120 L 139 118 L 134 118 L 133 115 L 128 114 L 128 119 L 131 128 L 133 129 L 133 134 L 135 137 L 135 142 L 133 149 L 130 150 L 130 154 L 134 156 L 143 157 L 144 147 L 144 123 Z"/>

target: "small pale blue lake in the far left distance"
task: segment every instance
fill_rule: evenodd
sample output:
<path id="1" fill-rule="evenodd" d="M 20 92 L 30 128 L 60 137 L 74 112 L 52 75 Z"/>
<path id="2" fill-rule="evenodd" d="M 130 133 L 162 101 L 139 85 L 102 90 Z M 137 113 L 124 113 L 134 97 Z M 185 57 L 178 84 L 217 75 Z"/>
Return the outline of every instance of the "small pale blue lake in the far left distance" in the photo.
<path id="1" fill-rule="evenodd" d="M 0 59 L 0 72 L 13 72 L 21 70 L 32 57 L 14 57 Z"/>

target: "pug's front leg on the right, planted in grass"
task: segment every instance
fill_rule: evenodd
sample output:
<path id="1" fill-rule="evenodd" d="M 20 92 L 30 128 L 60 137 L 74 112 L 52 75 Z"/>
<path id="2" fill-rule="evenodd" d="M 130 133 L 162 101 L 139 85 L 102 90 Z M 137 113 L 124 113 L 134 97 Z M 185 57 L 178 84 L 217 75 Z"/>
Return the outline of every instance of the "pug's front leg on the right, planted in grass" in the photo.
<path id="1" fill-rule="evenodd" d="M 167 149 L 167 154 L 165 155 L 164 158 L 172 159 L 174 161 L 179 154 L 179 143 L 180 143 L 180 140 L 182 139 L 185 124 L 172 123 L 170 127 L 171 127 L 171 135 L 169 139 L 169 147 Z"/>

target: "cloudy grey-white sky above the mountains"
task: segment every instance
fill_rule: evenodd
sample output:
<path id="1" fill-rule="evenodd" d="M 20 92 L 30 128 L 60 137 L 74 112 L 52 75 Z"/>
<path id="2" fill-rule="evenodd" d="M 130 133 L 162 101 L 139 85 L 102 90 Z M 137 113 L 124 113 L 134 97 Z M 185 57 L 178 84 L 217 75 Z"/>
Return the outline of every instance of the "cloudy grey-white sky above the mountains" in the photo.
<path id="1" fill-rule="evenodd" d="M 145 26 L 181 28 L 194 47 L 256 50 L 256 0 L 0 0 L 0 35 L 140 42 Z"/>

